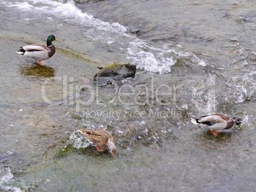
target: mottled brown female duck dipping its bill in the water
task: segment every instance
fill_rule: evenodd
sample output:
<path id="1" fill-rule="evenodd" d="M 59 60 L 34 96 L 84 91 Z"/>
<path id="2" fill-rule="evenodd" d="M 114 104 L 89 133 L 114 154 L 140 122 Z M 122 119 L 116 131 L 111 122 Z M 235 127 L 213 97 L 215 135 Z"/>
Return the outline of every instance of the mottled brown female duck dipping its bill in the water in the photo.
<path id="1" fill-rule="evenodd" d="M 89 139 L 93 144 L 96 145 L 98 151 L 109 151 L 112 156 L 116 156 L 115 154 L 115 144 L 112 135 L 110 132 L 104 129 L 99 128 L 90 128 L 90 129 L 79 129 L 87 139 Z"/>

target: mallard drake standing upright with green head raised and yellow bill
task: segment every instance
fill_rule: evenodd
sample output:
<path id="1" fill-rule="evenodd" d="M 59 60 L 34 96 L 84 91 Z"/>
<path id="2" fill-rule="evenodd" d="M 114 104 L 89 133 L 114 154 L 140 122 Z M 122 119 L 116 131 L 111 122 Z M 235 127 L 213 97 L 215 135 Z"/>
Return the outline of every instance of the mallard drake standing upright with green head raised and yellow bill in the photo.
<path id="1" fill-rule="evenodd" d="M 55 46 L 52 44 L 52 41 L 59 40 L 56 39 L 55 36 L 50 35 L 46 41 L 47 46 L 43 44 L 21 46 L 17 53 L 27 57 L 35 58 L 38 60 L 38 64 L 44 65 L 41 60 L 46 60 L 47 58 L 52 57 L 52 55 L 55 53 Z"/>

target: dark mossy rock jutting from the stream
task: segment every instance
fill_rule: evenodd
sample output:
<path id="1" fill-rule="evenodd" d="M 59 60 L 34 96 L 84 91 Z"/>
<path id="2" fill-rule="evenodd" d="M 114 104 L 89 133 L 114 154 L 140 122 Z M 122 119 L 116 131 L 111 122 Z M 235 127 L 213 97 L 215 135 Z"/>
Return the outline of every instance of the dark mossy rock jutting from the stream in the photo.
<path id="1" fill-rule="evenodd" d="M 110 64 L 103 67 L 94 75 L 94 81 L 97 81 L 99 86 L 104 86 L 113 81 L 122 81 L 126 78 L 133 78 L 136 73 L 136 65 L 133 64 Z"/>

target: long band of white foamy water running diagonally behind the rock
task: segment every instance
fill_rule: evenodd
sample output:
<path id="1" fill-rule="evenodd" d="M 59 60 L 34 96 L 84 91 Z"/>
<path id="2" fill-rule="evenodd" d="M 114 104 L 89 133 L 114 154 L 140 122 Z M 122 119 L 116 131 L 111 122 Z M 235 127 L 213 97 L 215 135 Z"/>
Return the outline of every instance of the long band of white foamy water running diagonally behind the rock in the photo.
<path id="1" fill-rule="evenodd" d="M 32 24 L 39 22 L 39 18 L 43 17 L 51 22 L 55 17 L 62 20 L 62 24 L 71 24 L 80 27 L 83 36 L 89 38 L 90 41 L 95 41 L 101 45 L 117 50 L 118 53 L 124 55 L 127 60 L 138 66 L 139 69 L 144 69 L 150 72 L 169 73 L 171 67 L 176 63 L 173 55 L 178 57 L 186 57 L 198 65 L 205 66 L 206 63 L 197 58 L 193 53 L 175 51 L 170 48 L 158 47 L 149 45 L 147 42 L 127 34 L 127 29 L 118 23 L 110 24 L 104 22 L 92 15 L 82 12 L 76 7 L 73 1 L 63 3 L 63 1 L 2 1 L 3 6 L 19 11 L 22 15 L 22 20 Z M 36 15 L 33 15 L 36 13 Z M 64 23 L 64 24 L 63 24 Z M 71 47 L 72 49 L 72 47 Z M 192 57 L 191 57 L 192 56 Z"/>

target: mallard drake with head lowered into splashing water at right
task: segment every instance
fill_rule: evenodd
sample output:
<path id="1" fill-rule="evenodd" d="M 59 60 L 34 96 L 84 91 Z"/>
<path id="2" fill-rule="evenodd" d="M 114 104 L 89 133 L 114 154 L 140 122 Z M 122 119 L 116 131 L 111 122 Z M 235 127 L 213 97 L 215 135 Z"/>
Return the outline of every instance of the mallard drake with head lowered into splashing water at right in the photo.
<path id="1" fill-rule="evenodd" d="M 218 135 L 222 130 L 233 127 L 234 123 L 241 125 L 242 121 L 239 118 L 230 119 L 222 113 L 210 113 L 199 117 L 192 117 L 191 122 L 202 127 L 207 127 L 210 129 L 211 134 Z"/>

